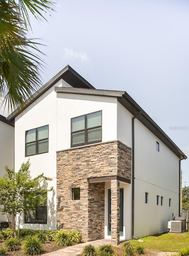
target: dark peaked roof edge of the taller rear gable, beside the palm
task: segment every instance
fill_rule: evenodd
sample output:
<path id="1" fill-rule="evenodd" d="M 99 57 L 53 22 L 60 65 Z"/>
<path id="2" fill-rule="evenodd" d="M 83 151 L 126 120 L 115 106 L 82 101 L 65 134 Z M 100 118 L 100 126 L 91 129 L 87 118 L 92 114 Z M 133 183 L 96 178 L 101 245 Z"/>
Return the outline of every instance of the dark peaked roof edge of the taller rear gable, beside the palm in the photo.
<path id="1" fill-rule="evenodd" d="M 23 112 L 28 106 L 30 106 L 33 102 L 35 102 L 40 96 L 42 96 L 48 89 L 50 89 L 58 80 L 61 79 L 63 73 L 67 70 L 71 71 L 77 78 L 79 78 L 82 82 L 84 82 L 89 88 L 95 89 L 87 80 L 85 80 L 82 76 L 80 76 L 74 69 L 72 69 L 69 65 L 67 65 L 64 69 L 62 69 L 58 74 L 56 74 L 52 79 L 50 79 L 45 85 L 43 85 L 37 92 L 33 94 L 26 102 L 25 106 L 22 109 L 17 108 L 14 112 L 12 112 L 7 118 L 8 120 L 13 120 L 17 115 Z"/>

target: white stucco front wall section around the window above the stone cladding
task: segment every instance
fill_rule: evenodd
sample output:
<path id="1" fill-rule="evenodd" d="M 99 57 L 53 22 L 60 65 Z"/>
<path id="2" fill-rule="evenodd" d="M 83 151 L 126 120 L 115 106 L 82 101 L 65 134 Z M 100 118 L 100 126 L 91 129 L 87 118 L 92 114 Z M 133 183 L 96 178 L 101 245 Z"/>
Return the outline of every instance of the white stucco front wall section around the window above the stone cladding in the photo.
<path id="1" fill-rule="evenodd" d="M 71 147 L 71 118 L 102 110 L 102 141 L 117 139 L 117 99 L 57 93 L 57 150 Z"/>

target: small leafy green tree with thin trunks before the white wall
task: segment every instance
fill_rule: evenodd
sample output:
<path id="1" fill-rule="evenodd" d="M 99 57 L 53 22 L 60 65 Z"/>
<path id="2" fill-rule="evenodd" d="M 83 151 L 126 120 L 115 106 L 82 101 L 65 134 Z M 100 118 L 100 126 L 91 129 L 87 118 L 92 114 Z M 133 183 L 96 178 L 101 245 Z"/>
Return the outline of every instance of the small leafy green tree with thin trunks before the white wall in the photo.
<path id="1" fill-rule="evenodd" d="M 30 160 L 28 159 L 26 163 L 22 163 L 18 172 L 5 166 L 6 173 L 0 177 L 0 205 L 3 206 L 1 212 L 6 214 L 7 219 L 7 213 L 13 215 L 14 237 L 16 237 L 17 216 L 19 237 L 21 214 L 27 209 L 35 209 L 41 205 L 47 198 L 47 192 L 53 189 L 53 187 L 47 189 L 47 181 L 52 179 L 45 177 L 43 173 L 32 179 L 29 168 Z"/>

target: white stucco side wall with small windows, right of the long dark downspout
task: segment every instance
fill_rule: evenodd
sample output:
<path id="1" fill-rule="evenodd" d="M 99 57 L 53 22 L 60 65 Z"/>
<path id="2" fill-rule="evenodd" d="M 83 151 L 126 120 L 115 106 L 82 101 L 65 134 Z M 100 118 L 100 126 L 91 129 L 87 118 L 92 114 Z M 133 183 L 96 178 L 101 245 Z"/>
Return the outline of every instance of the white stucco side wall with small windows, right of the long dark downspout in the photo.
<path id="1" fill-rule="evenodd" d="M 156 141 L 159 142 L 159 152 Z M 178 215 L 179 158 L 139 120 L 135 120 L 134 182 L 134 236 L 144 237 L 166 231 L 172 213 Z M 149 193 L 148 203 L 145 203 L 145 192 Z"/>

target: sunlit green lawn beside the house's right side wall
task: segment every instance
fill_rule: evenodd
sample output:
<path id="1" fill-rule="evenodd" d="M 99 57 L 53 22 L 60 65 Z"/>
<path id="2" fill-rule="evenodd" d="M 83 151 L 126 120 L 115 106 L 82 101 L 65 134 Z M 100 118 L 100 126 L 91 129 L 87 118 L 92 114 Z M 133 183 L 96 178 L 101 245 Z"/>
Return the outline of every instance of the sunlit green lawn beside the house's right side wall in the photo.
<path id="1" fill-rule="evenodd" d="M 154 236 L 147 236 L 140 238 L 144 242 L 132 240 L 132 244 L 135 246 L 141 245 L 144 248 L 158 249 L 164 252 L 179 252 L 180 249 L 189 247 L 189 232 L 186 233 L 168 233 L 168 234 L 157 234 Z"/>

